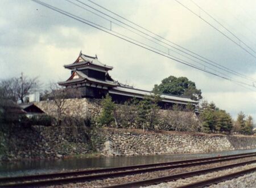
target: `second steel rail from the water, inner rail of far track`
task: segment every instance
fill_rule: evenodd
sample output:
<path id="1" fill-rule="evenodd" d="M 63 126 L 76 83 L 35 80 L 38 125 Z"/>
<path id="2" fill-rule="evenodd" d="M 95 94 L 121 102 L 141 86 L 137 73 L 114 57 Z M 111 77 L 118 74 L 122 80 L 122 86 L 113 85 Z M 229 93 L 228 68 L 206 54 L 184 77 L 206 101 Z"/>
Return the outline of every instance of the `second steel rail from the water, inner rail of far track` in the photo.
<path id="1" fill-rule="evenodd" d="M 209 163 L 216 163 L 221 161 L 227 161 L 227 160 L 234 160 L 234 159 L 241 159 L 245 157 L 255 156 L 256 153 L 251 155 L 242 155 L 237 156 L 233 155 L 232 157 L 225 157 L 223 159 L 215 159 L 215 160 L 204 160 L 204 161 L 195 161 L 192 163 L 184 163 L 184 164 L 174 164 L 174 165 L 167 165 L 167 166 L 159 166 L 155 168 L 143 168 L 143 169 L 135 169 L 135 170 L 127 170 L 127 171 L 121 171 L 121 172 L 113 172 L 113 173 L 102 173 L 102 174 L 90 174 L 87 176 L 75 176 L 75 177 L 65 177 L 65 178 L 55 178 L 55 177 L 48 177 L 49 180 L 42 180 L 42 181 L 34 181 L 31 182 L 14 182 L 14 183 L 4 183 L 1 182 L 0 187 L 12 187 L 12 186 L 40 186 L 40 185 L 53 185 L 53 184 L 63 184 L 63 183 L 70 183 L 70 182 L 76 182 L 76 181 L 92 181 L 92 180 L 98 180 L 103 178 L 109 178 L 109 177 L 116 177 L 116 176 L 127 176 L 130 174 L 136 174 L 136 173 L 144 173 L 144 172 L 152 172 L 156 170 L 166 170 L 166 169 L 172 169 L 172 168 L 182 168 L 187 166 L 196 166 L 196 165 L 202 165 L 202 164 L 209 164 Z M 24 181 L 24 180 L 23 180 Z M 27 181 L 27 180 L 25 180 Z"/>

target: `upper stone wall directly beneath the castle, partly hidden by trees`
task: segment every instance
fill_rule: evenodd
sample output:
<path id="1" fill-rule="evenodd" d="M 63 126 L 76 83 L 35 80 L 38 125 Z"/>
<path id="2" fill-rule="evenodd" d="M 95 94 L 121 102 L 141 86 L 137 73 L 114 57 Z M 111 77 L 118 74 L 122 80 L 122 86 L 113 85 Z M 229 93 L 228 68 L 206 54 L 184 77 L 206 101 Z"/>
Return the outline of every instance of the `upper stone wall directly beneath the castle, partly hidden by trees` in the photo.
<path id="1" fill-rule="evenodd" d="M 88 99 L 88 98 L 82 98 L 82 99 L 66 99 L 64 103 L 64 113 L 65 116 L 72 116 L 72 117 L 81 117 L 81 118 L 92 118 L 97 119 L 101 112 L 101 99 Z M 42 109 L 46 114 L 57 117 L 57 109 L 54 101 L 40 101 L 35 102 L 35 104 Z M 122 127 L 124 124 L 123 119 L 125 119 L 125 115 L 123 114 L 123 110 L 130 111 L 129 113 L 137 114 L 137 112 L 134 112 L 133 109 L 130 109 L 129 106 L 126 106 L 128 108 L 123 109 L 125 107 L 124 105 L 117 104 L 117 123 L 119 127 Z M 167 125 L 175 125 L 172 127 L 171 130 L 187 130 L 187 131 L 198 131 L 200 129 L 200 121 L 195 113 L 193 112 L 174 112 L 172 110 L 164 110 L 160 109 L 158 111 L 158 118 L 159 123 L 155 126 L 155 129 L 163 130 L 165 126 Z M 130 127 L 130 122 L 125 122 L 127 125 L 125 127 Z M 147 122 L 149 123 L 149 122 Z M 138 127 L 138 122 L 133 122 L 133 127 Z M 113 127 L 115 127 L 115 124 L 113 122 Z M 176 129 L 175 129 L 176 127 Z M 182 128 L 183 127 L 183 128 Z"/>

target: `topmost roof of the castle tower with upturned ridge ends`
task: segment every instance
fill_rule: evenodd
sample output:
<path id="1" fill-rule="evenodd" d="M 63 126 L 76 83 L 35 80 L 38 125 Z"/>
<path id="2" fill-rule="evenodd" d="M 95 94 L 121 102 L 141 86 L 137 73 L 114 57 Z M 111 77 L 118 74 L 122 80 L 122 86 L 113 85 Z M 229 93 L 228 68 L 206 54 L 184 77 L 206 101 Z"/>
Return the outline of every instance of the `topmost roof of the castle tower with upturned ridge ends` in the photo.
<path id="1" fill-rule="evenodd" d="M 76 59 L 75 62 L 69 65 L 64 65 L 65 68 L 67 69 L 75 69 L 77 67 L 84 67 L 84 66 L 95 66 L 95 67 L 100 67 L 101 69 L 104 70 L 112 70 L 112 66 L 104 65 L 100 61 L 98 61 L 98 57 L 92 57 L 89 55 L 82 54 L 80 52 L 79 57 Z"/>

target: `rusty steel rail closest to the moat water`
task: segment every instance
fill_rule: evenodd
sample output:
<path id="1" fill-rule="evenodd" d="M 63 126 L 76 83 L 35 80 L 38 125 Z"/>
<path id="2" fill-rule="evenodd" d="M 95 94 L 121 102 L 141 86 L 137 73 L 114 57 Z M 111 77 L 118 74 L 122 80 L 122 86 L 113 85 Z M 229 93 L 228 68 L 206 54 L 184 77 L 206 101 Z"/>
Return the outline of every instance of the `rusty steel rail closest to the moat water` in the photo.
<path id="1" fill-rule="evenodd" d="M 206 161 L 207 163 L 210 163 L 210 161 L 215 162 L 217 159 L 226 159 L 229 160 L 230 158 L 236 157 L 235 159 L 238 159 L 238 156 L 244 156 L 244 157 L 250 157 L 255 156 L 256 152 L 250 152 L 250 153 L 240 153 L 236 155 L 227 155 L 227 156 L 217 156 L 217 157 L 206 157 L 206 158 L 200 158 L 200 159 L 190 159 L 190 160 L 179 160 L 179 161 L 171 161 L 166 163 L 154 163 L 154 164 L 143 164 L 143 165 L 133 165 L 133 166 L 121 166 L 121 167 L 115 167 L 115 168 L 102 168 L 102 169 L 92 169 L 92 170 L 77 170 L 77 171 L 71 171 L 71 172 L 59 172 L 59 173 L 47 173 L 47 174 L 36 174 L 36 175 L 30 175 L 30 176 L 16 176 L 16 177 L 2 177 L 0 178 L 0 183 L 3 182 L 10 182 L 10 181 L 27 181 L 27 180 L 39 180 L 39 179 L 47 179 L 47 178 L 56 178 L 56 177 L 65 177 L 65 176 L 80 176 L 85 174 L 94 174 L 94 173 L 106 173 L 106 172 L 116 172 L 121 170 L 131 170 L 131 169 L 139 169 L 139 168 L 150 168 L 153 166 L 169 166 L 180 164 L 180 166 L 183 165 L 190 165 L 192 163 L 201 161 Z M 241 158 L 239 157 L 239 158 Z"/>

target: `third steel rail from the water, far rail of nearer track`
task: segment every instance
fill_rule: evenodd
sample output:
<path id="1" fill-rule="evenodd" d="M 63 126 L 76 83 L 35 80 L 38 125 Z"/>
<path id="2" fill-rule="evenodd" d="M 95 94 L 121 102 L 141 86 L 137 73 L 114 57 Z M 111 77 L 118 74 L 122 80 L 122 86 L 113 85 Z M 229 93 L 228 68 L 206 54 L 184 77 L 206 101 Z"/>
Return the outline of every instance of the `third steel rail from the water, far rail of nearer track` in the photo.
<path id="1" fill-rule="evenodd" d="M 134 181 L 134 182 L 122 183 L 122 184 L 118 184 L 118 185 L 105 186 L 105 187 L 102 187 L 102 188 L 139 187 L 139 186 L 155 185 L 155 184 L 158 184 L 158 183 L 178 180 L 180 178 L 188 178 L 188 177 L 192 177 L 192 176 L 198 176 L 198 175 L 204 174 L 204 173 L 216 172 L 218 170 L 234 168 L 234 167 L 237 167 L 237 166 L 252 164 L 252 163 L 256 163 L 256 160 L 246 161 L 246 162 L 242 162 L 242 163 L 235 163 L 235 164 L 230 164 L 230 165 L 224 165 L 224 166 L 218 166 L 218 167 L 214 167 L 214 168 L 207 168 L 207 169 L 202 169 L 202 170 L 195 170 L 195 171 L 192 171 L 192 172 L 179 173 L 179 174 L 174 174 L 174 175 L 171 175 L 171 176 L 150 178 L 150 179 L 142 180 L 142 181 Z"/>

